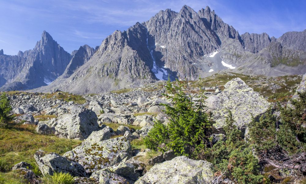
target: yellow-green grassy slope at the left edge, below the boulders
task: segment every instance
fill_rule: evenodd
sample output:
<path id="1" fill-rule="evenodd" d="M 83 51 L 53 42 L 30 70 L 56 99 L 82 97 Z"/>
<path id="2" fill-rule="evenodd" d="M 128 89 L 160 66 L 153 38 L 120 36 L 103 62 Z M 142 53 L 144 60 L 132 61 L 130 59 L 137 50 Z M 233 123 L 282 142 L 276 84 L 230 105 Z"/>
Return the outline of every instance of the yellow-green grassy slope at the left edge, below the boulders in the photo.
<path id="1" fill-rule="evenodd" d="M 78 146 L 82 141 L 58 138 L 56 136 L 36 133 L 35 125 L 18 125 L 10 123 L 7 128 L 0 128 L 0 160 L 6 163 L 6 173 L 3 178 L 11 178 L 9 183 L 18 183 L 14 173 L 9 170 L 19 162 L 28 162 L 35 166 L 34 153 L 44 151 L 63 154 Z"/>

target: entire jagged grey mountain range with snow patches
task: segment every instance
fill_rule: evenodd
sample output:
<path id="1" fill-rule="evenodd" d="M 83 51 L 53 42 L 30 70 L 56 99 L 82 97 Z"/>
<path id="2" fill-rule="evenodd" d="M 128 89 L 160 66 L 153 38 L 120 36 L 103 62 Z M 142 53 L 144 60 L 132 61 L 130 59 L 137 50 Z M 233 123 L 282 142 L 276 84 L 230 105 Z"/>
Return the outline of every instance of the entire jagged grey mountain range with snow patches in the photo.
<path id="1" fill-rule="evenodd" d="M 247 75 L 306 73 L 306 29 L 281 37 L 240 35 L 208 6 L 162 10 L 97 48 L 66 52 L 46 31 L 32 50 L 0 50 L 0 90 L 62 90 L 76 94 L 132 88 L 158 80 L 188 79 L 222 70 Z"/>

